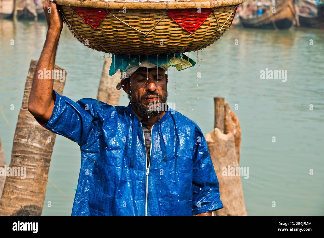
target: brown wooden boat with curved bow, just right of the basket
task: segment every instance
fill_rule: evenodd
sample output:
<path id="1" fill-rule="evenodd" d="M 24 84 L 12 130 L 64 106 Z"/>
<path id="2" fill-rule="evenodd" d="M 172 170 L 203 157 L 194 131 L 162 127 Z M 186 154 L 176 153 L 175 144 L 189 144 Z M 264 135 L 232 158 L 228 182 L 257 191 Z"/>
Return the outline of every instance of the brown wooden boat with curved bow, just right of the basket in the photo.
<path id="1" fill-rule="evenodd" d="M 288 29 L 296 23 L 294 0 L 277 0 L 274 13 L 271 2 L 268 5 L 257 2 L 252 7 L 248 4 L 242 12 L 240 22 L 247 28 Z"/>

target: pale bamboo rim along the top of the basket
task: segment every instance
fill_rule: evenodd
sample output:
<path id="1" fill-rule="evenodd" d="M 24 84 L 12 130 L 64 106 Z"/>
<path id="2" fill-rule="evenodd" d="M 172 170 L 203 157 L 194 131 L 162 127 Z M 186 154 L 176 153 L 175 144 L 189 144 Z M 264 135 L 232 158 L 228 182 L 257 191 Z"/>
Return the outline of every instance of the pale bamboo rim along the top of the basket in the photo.
<path id="1" fill-rule="evenodd" d="M 55 0 L 58 5 L 93 7 L 108 9 L 184 9 L 184 8 L 212 8 L 219 6 L 234 6 L 244 3 L 245 0 L 216 0 L 216 1 L 197 1 L 191 0 L 184 2 L 110 2 L 108 0 Z"/>

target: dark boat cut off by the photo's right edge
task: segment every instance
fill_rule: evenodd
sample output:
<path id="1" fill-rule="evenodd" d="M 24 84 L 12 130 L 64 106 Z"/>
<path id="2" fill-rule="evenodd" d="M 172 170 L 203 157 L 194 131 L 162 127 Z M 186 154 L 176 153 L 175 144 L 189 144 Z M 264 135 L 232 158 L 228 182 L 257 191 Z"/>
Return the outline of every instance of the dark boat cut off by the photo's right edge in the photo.
<path id="1" fill-rule="evenodd" d="M 298 9 L 301 27 L 324 28 L 324 2 L 302 0 Z"/>

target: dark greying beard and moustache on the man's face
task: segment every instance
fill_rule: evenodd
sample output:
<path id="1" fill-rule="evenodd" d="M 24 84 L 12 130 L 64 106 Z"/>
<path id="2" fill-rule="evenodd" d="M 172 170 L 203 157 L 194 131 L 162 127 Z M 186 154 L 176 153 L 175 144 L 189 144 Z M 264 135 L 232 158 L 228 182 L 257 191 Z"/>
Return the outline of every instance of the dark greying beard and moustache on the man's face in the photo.
<path id="1" fill-rule="evenodd" d="M 165 103 L 167 102 L 168 91 L 165 91 L 165 92 L 166 92 L 165 96 L 159 95 L 156 92 L 150 92 L 150 93 L 145 92 L 145 94 L 142 95 L 141 99 L 137 99 L 131 95 L 131 90 L 130 90 L 130 92 L 128 93 L 128 99 L 131 101 L 133 108 L 137 111 L 139 116 L 145 117 L 145 118 L 154 118 L 154 117 L 158 116 L 159 114 L 161 114 L 163 109 L 166 108 L 163 105 L 165 105 Z M 144 105 L 142 103 L 142 101 L 145 100 L 145 97 L 147 97 L 147 96 L 158 96 L 158 98 L 156 100 L 156 105 L 153 105 L 153 106 Z M 154 102 L 152 102 L 149 105 L 152 105 L 153 103 Z M 160 105 L 160 107 L 159 107 L 159 105 Z"/>

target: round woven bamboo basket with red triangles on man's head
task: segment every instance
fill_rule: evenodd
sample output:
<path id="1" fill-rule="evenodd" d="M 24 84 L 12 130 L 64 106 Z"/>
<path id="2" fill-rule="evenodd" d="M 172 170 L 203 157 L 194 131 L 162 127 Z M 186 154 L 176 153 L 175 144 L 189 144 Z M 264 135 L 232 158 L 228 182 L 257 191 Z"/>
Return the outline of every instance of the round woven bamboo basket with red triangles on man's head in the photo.
<path id="1" fill-rule="evenodd" d="M 137 55 L 203 49 L 228 30 L 243 2 L 56 0 L 81 43 L 106 53 Z"/>

